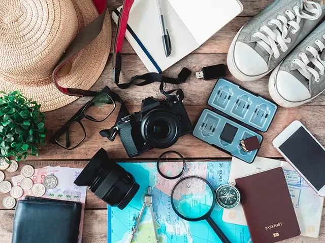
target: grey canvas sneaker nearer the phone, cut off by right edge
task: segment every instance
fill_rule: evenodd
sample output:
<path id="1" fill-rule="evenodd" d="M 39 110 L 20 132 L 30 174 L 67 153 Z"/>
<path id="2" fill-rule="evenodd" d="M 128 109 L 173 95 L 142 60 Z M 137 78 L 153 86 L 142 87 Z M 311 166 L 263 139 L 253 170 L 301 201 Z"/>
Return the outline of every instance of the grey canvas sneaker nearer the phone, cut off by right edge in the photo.
<path id="1" fill-rule="evenodd" d="M 307 103 L 325 90 L 325 22 L 272 72 L 269 91 L 283 107 Z"/>

